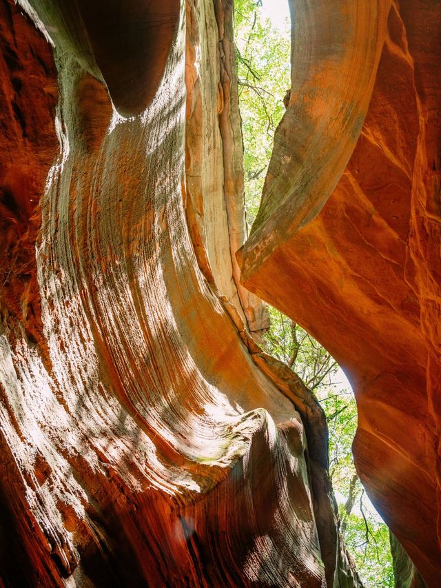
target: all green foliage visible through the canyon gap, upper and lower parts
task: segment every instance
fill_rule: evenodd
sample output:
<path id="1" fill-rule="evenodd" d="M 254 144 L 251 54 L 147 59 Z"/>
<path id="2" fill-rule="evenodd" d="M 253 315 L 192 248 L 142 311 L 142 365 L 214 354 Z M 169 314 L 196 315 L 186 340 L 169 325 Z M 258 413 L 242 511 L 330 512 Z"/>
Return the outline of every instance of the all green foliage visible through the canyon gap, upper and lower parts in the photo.
<path id="1" fill-rule="evenodd" d="M 290 87 L 289 31 L 282 37 L 260 14 L 260 0 L 236 0 L 236 57 L 245 145 L 245 203 L 257 214 L 274 130 Z M 274 308 L 267 352 L 287 363 L 318 397 L 329 427 L 330 476 L 340 512 L 340 531 L 366 588 L 393 587 L 389 530 L 365 494 L 353 465 L 356 401 L 342 384 L 334 358 L 311 335 Z"/>

